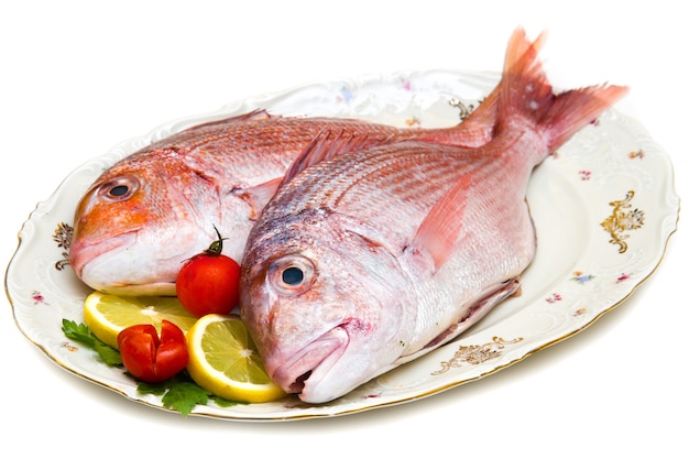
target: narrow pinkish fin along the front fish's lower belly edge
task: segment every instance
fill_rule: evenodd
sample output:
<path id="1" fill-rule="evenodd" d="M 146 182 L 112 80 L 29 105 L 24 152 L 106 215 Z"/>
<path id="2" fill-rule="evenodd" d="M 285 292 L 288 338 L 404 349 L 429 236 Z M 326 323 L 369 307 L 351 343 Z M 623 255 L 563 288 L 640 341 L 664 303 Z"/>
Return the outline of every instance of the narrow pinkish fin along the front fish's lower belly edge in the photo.
<path id="1" fill-rule="evenodd" d="M 507 299 L 510 296 L 515 295 L 515 293 L 520 292 L 520 277 L 510 278 L 502 284 L 497 284 L 494 288 L 489 291 L 485 296 L 475 302 L 475 304 L 467 310 L 467 314 L 462 316 L 457 321 L 457 324 L 452 324 L 450 327 L 442 330 L 422 349 L 411 354 L 400 357 L 395 361 L 395 364 L 400 365 L 417 359 L 419 356 L 430 352 L 431 350 L 437 349 L 446 342 L 449 342 L 452 339 L 457 338 L 458 336 L 467 331 L 471 326 L 485 317 L 485 315 L 490 313 L 493 307 Z"/>

